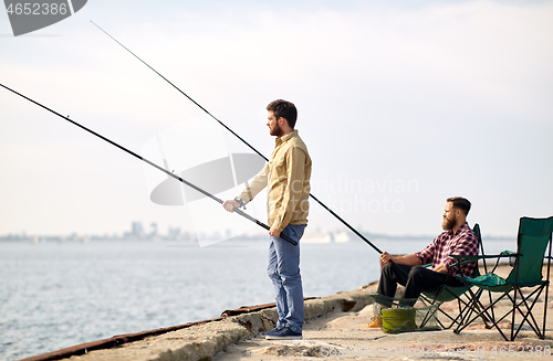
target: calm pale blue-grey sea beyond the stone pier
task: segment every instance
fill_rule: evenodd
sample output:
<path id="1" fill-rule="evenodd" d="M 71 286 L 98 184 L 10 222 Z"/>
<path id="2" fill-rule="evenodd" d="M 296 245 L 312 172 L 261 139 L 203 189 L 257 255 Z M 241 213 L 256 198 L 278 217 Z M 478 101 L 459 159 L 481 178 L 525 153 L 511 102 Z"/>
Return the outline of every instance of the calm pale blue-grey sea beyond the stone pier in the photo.
<path id="1" fill-rule="evenodd" d="M 373 243 L 411 253 L 430 241 Z M 145 241 L 0 242 L 0 360 L 272 302 L 267 248 L 265 240 L 205 248 Z M 304 295 L 327 296 L 377 280 L 378 254 L 361 240 L 302 244 L 301 269 Z"/>

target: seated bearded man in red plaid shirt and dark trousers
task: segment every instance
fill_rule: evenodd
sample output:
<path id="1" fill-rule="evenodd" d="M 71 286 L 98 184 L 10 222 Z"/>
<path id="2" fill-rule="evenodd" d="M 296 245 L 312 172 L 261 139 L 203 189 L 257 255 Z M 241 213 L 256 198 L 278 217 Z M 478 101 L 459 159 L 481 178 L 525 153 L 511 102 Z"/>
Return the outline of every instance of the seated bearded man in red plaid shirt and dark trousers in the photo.
<path id="1" fill-rule="evenodd" d="M 465 276 L 472 276 L 476 263 L 468 264 L 458 269 L 457 261 L 451 255 L 478 255 L 478 237 L 467 223 L 470 202 L 465 198 L 449 198 L 444 212 L 442 229 L 446 231 L 438 235 L 425 249 L 405 255 L 392 256 L 384 252 L 380 262 L 384 267 L 377 293 L 388 297 L 396 294 L 397 284 L 405 286 L 403 298 L 416 299 L 422 291 L 435 291 L 440 285 L 453 287 L 462 286 L 455 278 L 459 272 Z M 392 264 L 390 259 L 395 263 Z M 431 263 L 430 267 L 422 265 Z M 405 301 L 413 306 L 414 302 Z M 389 305 L 384 305 L 389 306 Z M 369 327 L 379 327 L 377 318 Z"/>

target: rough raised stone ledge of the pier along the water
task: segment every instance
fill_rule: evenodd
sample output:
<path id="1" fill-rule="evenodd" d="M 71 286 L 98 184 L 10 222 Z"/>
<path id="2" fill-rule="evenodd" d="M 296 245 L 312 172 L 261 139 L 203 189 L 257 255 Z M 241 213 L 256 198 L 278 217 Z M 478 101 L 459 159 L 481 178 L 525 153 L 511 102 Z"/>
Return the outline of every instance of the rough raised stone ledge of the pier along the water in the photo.
<path id="1" fill-rule="evenodd" d="M 361 310 L 372 302 L 368 295 L 378 282 L 332 296 L 305 298 L 305 320 L 320 318 L 334 310 Z M 178 360 L 211 359 L 227 347 L 273 328 L 278 320 L 274 304 L 225 310 L 221 317 L 161 329 L 114 336 L 65 349 L 33 355 L 21 361 L 50 360 L 152 360 L 164 359 L 167 352 Z M 148 346 L 146 352 L 136 349 Z M 129 353 L 127 353 L 127 349 Z M 171 360 L 176 360 L 170 358 Z"/>

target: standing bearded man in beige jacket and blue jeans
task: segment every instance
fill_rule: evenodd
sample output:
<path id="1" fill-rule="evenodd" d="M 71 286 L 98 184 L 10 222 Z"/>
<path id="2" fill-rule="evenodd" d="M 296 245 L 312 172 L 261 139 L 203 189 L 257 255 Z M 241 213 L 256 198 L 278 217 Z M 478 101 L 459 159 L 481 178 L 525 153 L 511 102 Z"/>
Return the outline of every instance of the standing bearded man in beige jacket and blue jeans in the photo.
<path id="1" fill-rule="evenodd" d="M 276 137 L 269 163 L 234 200 L 222 206 L 233 212 L 250 202 L 267 187 L 269 216 L 269 265 L 274 286 L 279 321 L 263 333 L 269 340 L 301 340 L 303 327 L 303 288 L 300 274 L 300 245 L 280 238 L 286 235 L 300 242 L 309 214 L 311 158 L 305 144 L 294 130 L 298 110 L 294 104 L 278 99 L 267 106 L 269 134 Z"/>

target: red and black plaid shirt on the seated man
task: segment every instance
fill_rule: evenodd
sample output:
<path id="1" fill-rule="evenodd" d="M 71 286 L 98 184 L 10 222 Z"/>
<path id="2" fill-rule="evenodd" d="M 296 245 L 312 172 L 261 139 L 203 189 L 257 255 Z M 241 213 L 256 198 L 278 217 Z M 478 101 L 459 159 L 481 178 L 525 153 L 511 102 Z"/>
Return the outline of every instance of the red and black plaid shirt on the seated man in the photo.
<path id="1" fill-rule="evenodd" d="M 437 236 L 425 249 L 415 254 L 420 259 L 421 265 L 431 263 L 432 268 L 435 268 L 440 263 L 444 263 L 449 274 L 455 276 L 459 273 L 459 269 L 455 266 L 457 259 L 451 255 L 478 255 L 478 237 L 474 231 L 469 227 L 469 224 L 465 223 L 455 234 L 452 230 L 446 231 Z M 462 274 L 471 277 L 474 266 L 476 263 L 462 266 Z"/>

